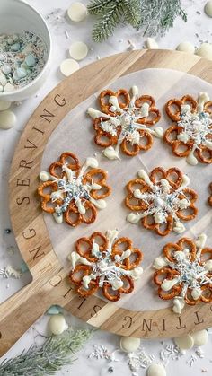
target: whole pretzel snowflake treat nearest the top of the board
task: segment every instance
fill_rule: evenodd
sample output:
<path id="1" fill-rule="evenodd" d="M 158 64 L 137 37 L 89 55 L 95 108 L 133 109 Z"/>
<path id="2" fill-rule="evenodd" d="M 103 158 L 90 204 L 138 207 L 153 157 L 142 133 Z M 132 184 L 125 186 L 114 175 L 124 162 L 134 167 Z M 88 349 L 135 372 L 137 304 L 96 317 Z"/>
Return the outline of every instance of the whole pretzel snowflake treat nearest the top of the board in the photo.
<path id="1" fill-rule="evenodd" d="M 151 129 L 161 118 L 155 100 L 150 95 L 138 97 L 137 86 L 132 87 L 132 98 L 127 90 L 104 90 L 100 94 L 101 111 L 88 109 L 96 131 L 94 141 L 104 147 L 103 154 L 110 160 L 119 159 L 119 149 L 134 156 L 153 144 L 153 136 L 163 138 L 163 128 Z"/>

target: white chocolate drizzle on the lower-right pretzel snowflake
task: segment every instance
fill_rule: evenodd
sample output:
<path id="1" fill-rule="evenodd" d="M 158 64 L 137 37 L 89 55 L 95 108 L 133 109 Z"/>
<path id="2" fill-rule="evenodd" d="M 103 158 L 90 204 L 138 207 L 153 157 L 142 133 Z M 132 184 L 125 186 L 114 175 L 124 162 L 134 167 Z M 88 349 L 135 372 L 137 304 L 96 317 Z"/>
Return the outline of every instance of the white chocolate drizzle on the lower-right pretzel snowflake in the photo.
<path id="1" fill-rule="evenodd" d="M 183 285 L 180 295 L 175 296 L 173 299 L 172 310 L 175 313 L 181 314 L 188 290 L 192 298 L 198 300 L 202 295 L 201 287 L 205 284 L 212 284 L 212 277 L 208 275 L 208 272 L 212 271 L 212 260 L 200 262 L 201 251 L 205 246 L 206 240 L 207 236 L 205 234 L 199 235 L 195 243 L 197 247 L 196 258 L 193 261 L 190 260 L 190 250 L 187 248 L 174 252 L 173 262 L 162 256 L 155 258 L 153 263 L 155 269 L 171 267 L 172 270 L 176 270 L 179 273 L 173 279 L 164 279 L 161 284 L 161 288 L 165 292 L 172 291 L 172 287 L 175 285 Z"/>

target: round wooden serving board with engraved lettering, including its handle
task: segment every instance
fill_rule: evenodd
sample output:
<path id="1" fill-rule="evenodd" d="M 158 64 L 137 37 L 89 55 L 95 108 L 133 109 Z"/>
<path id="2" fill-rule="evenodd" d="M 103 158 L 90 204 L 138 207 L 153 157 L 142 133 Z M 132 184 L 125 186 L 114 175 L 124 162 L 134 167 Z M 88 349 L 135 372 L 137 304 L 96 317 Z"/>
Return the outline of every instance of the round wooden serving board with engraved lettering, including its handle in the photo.
<path id="1" fill-rule="evenodd" d="M 0 355 L 52 304 L 122 336 L 177 337 L 212 325 L 210 304 L 187 306 L 178 316 L 170 308 L 132 311 L 96 296 L 77 296 L 52 249 L 35 195 L 45 146 L 66 114 L 120 76 L 146 68 L 172 68 L 212 83 L 212 63 L 200 57 L 169 50 L 126 52 L 85 66 L 58 84 L 26 125 L 14 153 L 9 186 L 13 232 L 32 282 L 0 305 Z"/>

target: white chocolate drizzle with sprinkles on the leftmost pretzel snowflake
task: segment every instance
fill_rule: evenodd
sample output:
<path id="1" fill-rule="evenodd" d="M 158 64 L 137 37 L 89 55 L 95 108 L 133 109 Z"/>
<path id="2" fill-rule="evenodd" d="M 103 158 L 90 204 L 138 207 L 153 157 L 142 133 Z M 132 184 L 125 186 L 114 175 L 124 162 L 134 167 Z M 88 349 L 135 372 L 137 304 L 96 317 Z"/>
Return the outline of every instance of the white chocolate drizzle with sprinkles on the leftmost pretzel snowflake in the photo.
<path id="1" fill-rule="evenodd" d="M 79 214 L 85 214 L 86 209 L 84 207 L 84 200 L 89 200 L 97 207 L 97 209 L 104 209 L 106 202 L 103 199 L 94 199 L 91 197 L 91 190 L 101 189 L 101 185 L 94 182 L 83 183 L 84 172 L 88 169 L 96 169 L 98 167 L 98 161 L 96 158 L 86 158 L 84 164 L 79 171 L 78 176 L 75 171 L 69 169 L 66 164 L 62 166 L 62 171 L 66 172 L 66 176 L 63 178 L 56 178 L 47 171 L 40 172 L 41 181 L 54 181 L 57 183 L 57 191 L 51 193 L 51 202 L 54 203 L 57 200 L 62 201 L 60 205 L 55 207 L 53 217 L 57 223 L 63 222 L 63 214 L 66 212 L 70 203 L 75 203 L 78 208 Z"/>

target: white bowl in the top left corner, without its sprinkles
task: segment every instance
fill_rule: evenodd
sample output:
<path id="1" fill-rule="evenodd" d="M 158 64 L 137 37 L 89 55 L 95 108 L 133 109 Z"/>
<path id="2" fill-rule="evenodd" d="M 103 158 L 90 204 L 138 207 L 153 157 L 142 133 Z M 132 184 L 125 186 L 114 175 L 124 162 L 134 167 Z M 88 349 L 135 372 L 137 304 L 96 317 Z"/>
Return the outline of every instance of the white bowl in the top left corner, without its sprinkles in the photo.
<path id="1" fill-rule="evenodd" d="M 31 5 L 23 0 L 0 0 L 0 34 L 31 31 L 39 35 L 47 46 L 46 64 L 31 83 L 13 92 L 0 92 L 1 101 L 22 101 L 37 92 L 49 73 L 51 37 L 47 23 Z"/>

